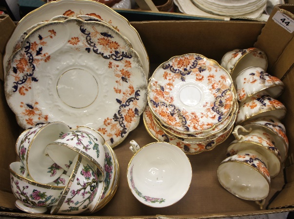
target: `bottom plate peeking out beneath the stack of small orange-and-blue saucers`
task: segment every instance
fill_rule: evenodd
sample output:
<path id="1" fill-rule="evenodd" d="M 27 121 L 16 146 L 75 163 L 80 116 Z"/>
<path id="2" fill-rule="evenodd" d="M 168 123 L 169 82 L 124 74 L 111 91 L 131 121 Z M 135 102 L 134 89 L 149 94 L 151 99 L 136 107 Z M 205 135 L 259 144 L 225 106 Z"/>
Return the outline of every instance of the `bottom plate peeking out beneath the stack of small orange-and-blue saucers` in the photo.
<path id="1" fill-rule="evenodd" d="M 146 107 L 143 113 L 143 123 L 149 135 L 155 140 L 157 140 L 158 142 L 168 142 L 170 144 L 173 144 L 181 148 L 181 150 L 184 151 L 187 155 L 198 154 L 214 149 L 217 145 L 224 142 L 230 136 L 234 128 L 233 124 L 222 135 L 214 140 L 208 140 L 202 143 L 185 143 L 179 138 L 168 135 L 164 132 L 162 128 L 157 125 L 157 123 L 153 119 L 152 112 L 149 106 Z"/>

